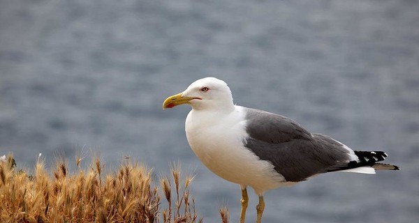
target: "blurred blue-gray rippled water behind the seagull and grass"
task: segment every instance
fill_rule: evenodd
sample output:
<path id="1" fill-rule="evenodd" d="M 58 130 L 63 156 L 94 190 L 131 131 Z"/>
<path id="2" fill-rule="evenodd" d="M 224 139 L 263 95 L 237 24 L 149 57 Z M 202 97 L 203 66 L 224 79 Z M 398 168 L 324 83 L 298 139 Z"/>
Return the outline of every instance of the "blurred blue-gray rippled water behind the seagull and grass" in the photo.
<path id="1" fill-rule="evenodd" d="M 129 155 L 156 176 L 179 160 L 205 222 L 221 205 L 237 222 L 239 187 L 187 144 L 190 108 L 161 109 L 206 76 L 238 105 L 402 167 L 272 190 L 264 222 L 419 219 L 419 1 L 1 0 L 0 155 L 32 168 L 38 153 L 72 162 L 93 148 L 107 166 Z"/>

